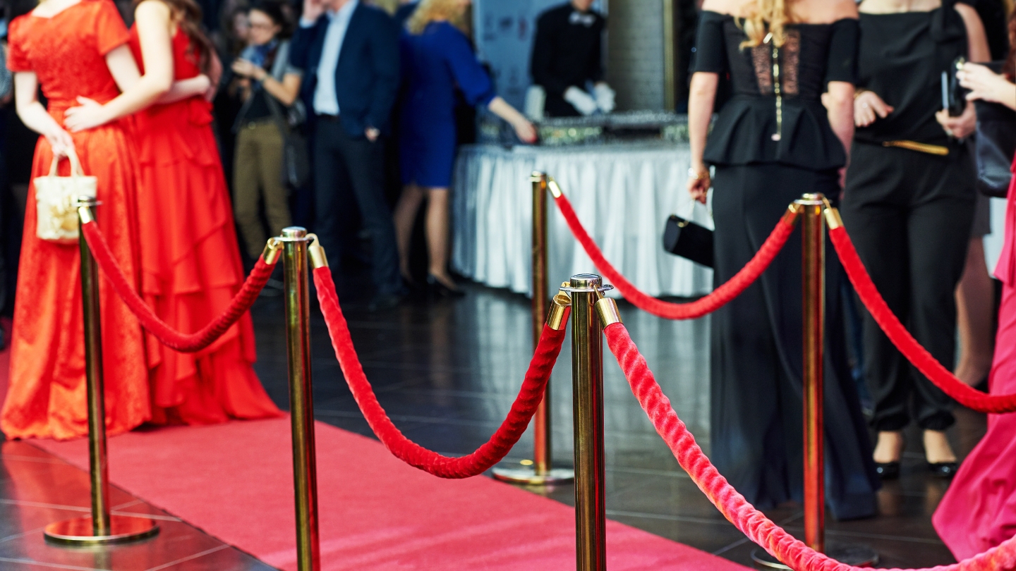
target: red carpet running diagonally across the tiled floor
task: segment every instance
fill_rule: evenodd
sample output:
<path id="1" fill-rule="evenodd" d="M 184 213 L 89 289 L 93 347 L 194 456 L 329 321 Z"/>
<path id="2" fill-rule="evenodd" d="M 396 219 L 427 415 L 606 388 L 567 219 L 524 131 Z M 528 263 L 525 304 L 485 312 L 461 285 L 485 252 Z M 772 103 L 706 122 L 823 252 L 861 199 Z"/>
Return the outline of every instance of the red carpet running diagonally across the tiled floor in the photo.
<path id="1" fill-rule="evenodd" d="M 317 425 L 322 570 L 570 570 L 574 510 L 480 477 L 446 481 L 380 443 Z M 87 467 L 83 440 L 31 441 Z M 289 420 L 173 427 L 110 439 L 114 484 L 270 565 L 296 569 Z M 743 570 L 617 522 L 611 571 Z"/>

